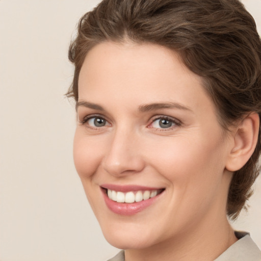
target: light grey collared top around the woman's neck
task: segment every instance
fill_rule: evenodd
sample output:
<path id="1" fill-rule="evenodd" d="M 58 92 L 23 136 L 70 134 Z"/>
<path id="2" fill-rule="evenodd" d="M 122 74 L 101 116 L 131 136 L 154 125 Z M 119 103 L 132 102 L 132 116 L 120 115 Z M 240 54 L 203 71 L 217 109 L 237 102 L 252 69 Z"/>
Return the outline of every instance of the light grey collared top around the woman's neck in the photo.
<path id="1" fill-rule="evenodd" d="M 261 251 L 250 238 L 249 233 L 236 231 L 235 234 L 239 240 L 214 261 L 261 261 Z M 124 250 L 121 250 L 108 261 L 124 260 Z"/>

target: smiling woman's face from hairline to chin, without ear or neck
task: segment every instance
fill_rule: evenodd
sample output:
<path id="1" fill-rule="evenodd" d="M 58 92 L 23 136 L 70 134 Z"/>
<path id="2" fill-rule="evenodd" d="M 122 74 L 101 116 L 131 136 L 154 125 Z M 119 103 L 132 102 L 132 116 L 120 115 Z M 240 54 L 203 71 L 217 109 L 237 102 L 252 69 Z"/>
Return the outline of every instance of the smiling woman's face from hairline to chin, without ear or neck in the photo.
<path id="1" fill-rule="evenodd" d="M 76 170 L 109 243 L 146 248 L 225 218 L 229 139 L 200 77 L 175 53 L 95 46 L 81 69 L 77 116 Z"/>

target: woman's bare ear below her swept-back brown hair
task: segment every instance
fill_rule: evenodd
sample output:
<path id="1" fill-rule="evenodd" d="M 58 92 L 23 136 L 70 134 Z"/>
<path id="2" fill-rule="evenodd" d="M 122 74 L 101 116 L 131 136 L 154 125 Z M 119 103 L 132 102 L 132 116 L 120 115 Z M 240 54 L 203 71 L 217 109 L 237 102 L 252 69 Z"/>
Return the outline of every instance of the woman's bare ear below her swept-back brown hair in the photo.
<path id="1" fill-rule="evenodd" d="M 250 113 L 233 132 L 232 149 L 227 158 L 226 169 L 237 171 L 250 159 L 254 152 L 259 131 L 259 115 Z"/>

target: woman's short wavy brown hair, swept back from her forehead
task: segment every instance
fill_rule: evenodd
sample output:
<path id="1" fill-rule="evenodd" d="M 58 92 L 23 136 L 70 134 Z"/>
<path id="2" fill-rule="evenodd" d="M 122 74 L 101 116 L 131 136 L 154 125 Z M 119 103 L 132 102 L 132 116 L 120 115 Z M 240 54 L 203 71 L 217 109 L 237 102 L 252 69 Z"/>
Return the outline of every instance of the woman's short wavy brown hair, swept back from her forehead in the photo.
<path id="1" fill-rule="evenodd" d="M 149 42 L 176 51 L 200 75 L 223 129 L 249 112 L 261 116 L 261 43 L 253 17 L 238 0 L 103 0 L 79 22 L 69 59 L 75 65 L 67 96 L 78 100 L 79 73 L 88 51 L 104 41 Z M 256 148 L 234 172 L 227 215 L 236 219 L 259 174 Z"/>

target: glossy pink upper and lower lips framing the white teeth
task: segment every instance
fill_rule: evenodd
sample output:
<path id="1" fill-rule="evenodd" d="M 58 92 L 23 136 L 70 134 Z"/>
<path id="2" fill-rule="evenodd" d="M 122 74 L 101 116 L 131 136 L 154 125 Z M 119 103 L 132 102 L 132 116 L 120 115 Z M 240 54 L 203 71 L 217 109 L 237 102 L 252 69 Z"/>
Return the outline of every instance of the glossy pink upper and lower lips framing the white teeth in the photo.
<path id="1" fill-rule="evenodd" d="M 110 187 L 110 188 L 109 188 Z M 121 192 L 126 192 L 126 191 L 138 191 L 138 190 L 156 190 L 156 188 L 148 188 L 148 187 L 141 187 L 141 186 L 116 186 L 116 185 L 103 185 L 102 188 L 114 188 L 112 190 L 115 191 L 121 191 Z M 117 187 L 117 189 L 116 189 Z M 118 203 L 114 200 L 109 199 L 107 193 L 104 191 L 104 189 L 101 188 L 103 198 L 105 199 L 105 203 L 109 210 L 114 212 L 115 214 L 118 215 L 123 215 L 123 216 L 132 216 L 135 215 L 141 211 L 143 211 L 145 208 L 153 204 L 156 200 L 159 199 L 159 197 L 163 194 L 163 192 L 155 197 L 149 198 L 147 200 L 142 200 L 140 202 L 134 202 L 134 203 Z M 120 188 L 120 190 L 119 190 Z M 131 188 L 131 189 L 130 189 Z"/>

